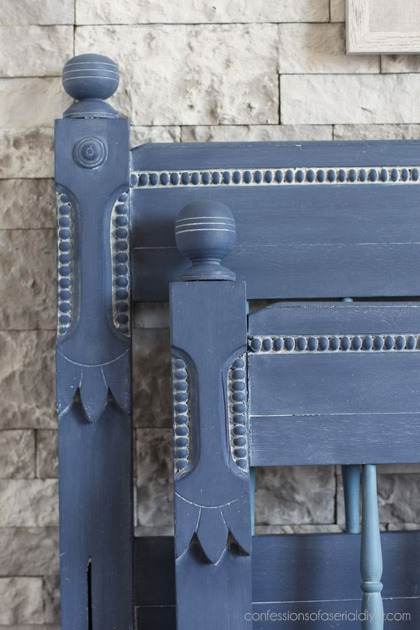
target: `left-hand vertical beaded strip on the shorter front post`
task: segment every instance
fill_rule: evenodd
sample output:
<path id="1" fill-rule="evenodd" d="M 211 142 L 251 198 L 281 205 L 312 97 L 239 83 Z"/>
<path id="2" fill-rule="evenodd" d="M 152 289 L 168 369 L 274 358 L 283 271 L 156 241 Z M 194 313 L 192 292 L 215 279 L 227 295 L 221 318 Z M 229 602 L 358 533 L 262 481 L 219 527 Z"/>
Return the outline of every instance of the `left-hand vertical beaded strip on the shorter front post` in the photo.
<path id="1" fill-rule="evenodd" d="M 185 361 L 172 358 L 172 404 L 174 409 L 174 472 L 181 472 L 191 458 L 190 380 Z"/>

